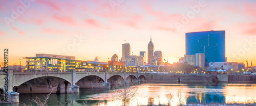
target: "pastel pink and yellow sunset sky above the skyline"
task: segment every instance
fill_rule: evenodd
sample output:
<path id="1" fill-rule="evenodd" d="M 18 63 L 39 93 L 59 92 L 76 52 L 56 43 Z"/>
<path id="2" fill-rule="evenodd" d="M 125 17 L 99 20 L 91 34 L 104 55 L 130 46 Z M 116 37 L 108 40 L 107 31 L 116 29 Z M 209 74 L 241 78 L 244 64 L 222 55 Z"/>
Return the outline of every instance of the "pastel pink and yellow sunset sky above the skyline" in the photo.
<path id="1" fill-rule="evenodd" d="M 0 62 L 9 65 L 35 54 L 107 62 L 122 44 L 133 55 L 152 41 L 169 63 L 185 54 L 185 33 L 226 31 L 229 62 L 256 65 L 256 1 L 228 0 L 1 0 Z M 22 65 L 25 65 L 22 59 Z"/>

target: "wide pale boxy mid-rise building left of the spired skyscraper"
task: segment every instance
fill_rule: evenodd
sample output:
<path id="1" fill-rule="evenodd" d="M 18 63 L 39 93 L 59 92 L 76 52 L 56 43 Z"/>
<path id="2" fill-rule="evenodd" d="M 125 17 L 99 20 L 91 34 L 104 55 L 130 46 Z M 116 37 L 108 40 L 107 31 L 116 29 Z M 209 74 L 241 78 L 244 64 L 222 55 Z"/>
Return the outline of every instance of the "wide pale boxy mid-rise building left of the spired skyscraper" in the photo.
<path id="1" fill-rule="evenodd" d="M 143 66 L 143 57 L 140 56 L 126 56 L 125 67 Z"/>

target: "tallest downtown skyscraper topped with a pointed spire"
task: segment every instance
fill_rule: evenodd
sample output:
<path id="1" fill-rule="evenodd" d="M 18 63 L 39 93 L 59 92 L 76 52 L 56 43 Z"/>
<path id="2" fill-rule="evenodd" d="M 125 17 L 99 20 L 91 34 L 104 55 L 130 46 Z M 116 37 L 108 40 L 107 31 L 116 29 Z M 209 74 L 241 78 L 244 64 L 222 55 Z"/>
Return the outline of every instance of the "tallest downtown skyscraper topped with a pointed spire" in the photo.
<path id="1" fill-rule="evenodd" d="M 150 38 L 150 43 L 147 45 L 147 64 L 151 64 L 154 60 L 154 43 L 152 42 L 152 38 Z"/>

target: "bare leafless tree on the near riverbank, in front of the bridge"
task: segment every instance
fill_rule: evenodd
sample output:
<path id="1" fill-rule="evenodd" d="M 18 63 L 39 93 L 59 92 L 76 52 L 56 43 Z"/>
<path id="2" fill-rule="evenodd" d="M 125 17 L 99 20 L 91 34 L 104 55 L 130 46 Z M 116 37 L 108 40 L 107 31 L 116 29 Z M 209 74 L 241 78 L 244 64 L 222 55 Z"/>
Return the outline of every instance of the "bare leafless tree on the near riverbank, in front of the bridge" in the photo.
<path id="1" fill-rule="evenodd" d="M 124 100 L 124 106 L 128 100 L 131 100 L 136 94 L 138 88 L 135 86 L 136 80 L 131 80 L 130 78 L 127 81 L 123 81 L 122 78 L 118 78 L 115 85 L 114 98 L 116 100 Z"/>

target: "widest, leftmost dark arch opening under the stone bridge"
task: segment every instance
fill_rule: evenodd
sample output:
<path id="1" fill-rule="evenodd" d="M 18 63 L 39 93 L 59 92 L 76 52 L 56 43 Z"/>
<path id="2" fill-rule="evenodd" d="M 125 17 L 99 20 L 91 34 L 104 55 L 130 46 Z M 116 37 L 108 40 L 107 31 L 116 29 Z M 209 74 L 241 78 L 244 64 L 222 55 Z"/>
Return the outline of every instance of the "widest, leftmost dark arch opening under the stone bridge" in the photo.
<path id="1" fill-rule="evenodd" d="M 20 82 L 21 83 L 21 82 Z M 16 83 L 12 90 L 20 94 L 27 93 L 68 93 L 71 92 L 70 81 L 56 76 L 41 76 L 29 77 L 28 80 L 22 84 Z"/>

